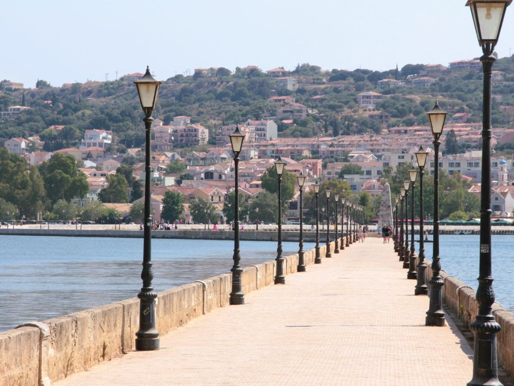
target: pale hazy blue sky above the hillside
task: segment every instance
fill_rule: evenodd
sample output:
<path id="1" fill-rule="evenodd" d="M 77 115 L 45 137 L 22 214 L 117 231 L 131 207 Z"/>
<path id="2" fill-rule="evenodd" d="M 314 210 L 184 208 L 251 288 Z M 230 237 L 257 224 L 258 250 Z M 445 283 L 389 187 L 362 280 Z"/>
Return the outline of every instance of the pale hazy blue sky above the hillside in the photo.
<path id="1" fill-rule="evenodd" d="M 481 55 L 465 0 L 3 2 L 0 79 L 34 87 L 196 67 L 386 70 Z M 514 52 L 514 5 L 500 57 Z"/>

